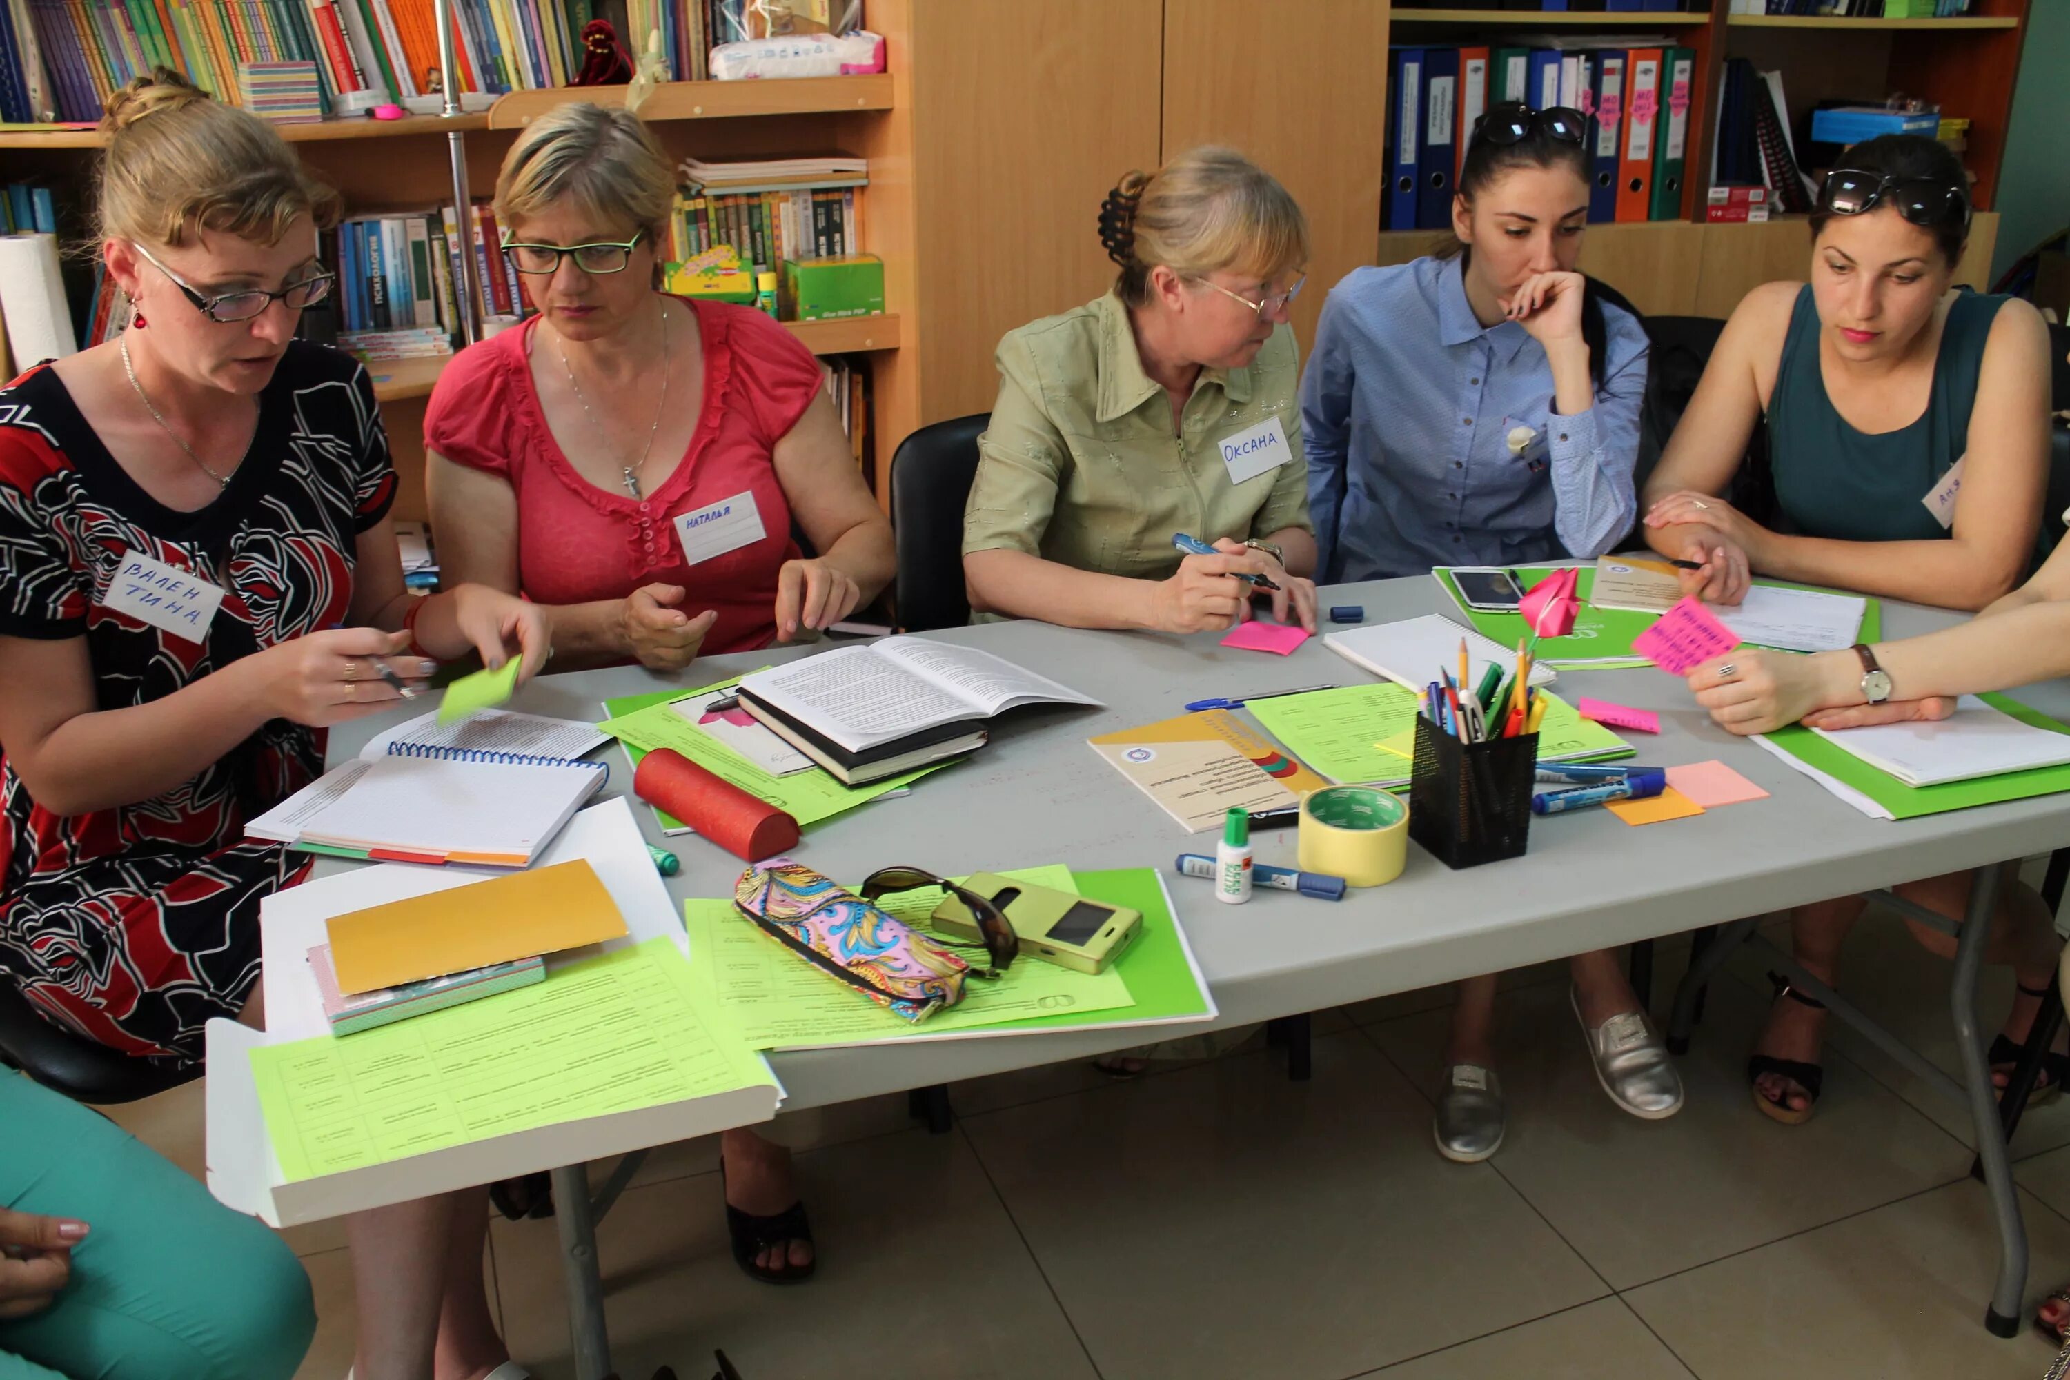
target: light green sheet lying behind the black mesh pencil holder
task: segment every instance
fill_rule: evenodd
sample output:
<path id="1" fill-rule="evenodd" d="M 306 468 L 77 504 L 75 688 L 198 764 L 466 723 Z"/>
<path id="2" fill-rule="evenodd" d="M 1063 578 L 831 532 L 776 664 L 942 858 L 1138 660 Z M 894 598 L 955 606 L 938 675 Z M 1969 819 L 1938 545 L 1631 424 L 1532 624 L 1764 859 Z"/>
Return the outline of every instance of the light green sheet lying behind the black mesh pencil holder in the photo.
<path id="1" fill-rule="evenodd" d="M 1631 757 L 1631 745 L 1602 724 L 1573 712 L 1559 695 L 1546 699 L 1538 732 L 1538 759 L 1606 761 Z M 1403 786 L 1416 751 L 1414 691 L 1381 681 L 1275 695 L 1244 706 L 1279 743 L 1308 768 L 1337 782 Z M 1387 743 L 1391 747 L 1381 747 Z"/>

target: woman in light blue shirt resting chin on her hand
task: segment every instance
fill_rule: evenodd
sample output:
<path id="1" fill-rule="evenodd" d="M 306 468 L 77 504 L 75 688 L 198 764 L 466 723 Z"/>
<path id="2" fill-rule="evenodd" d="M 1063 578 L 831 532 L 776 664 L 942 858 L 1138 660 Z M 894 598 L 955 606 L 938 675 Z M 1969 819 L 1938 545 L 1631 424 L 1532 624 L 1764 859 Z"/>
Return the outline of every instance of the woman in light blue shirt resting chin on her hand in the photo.
<path id="1" fill-rule="evenodd" d="M 1459 252 L 1358 269 L 1329 294 L 1300 389 L 1317 583 L 1598 557 L 1631 530 L 1646 331 L 1573 271 L 1586 132 L 1575 110 L 1495 106 L 1459 170 Z M 1675 1115 L 1681 1078 L 1615 954 L 1571 970 L 1602 1090 L 1635 1117 Z M 1468 979 L 1432 1126 L 1453 1161 L 1503 1142 L 1492 1026 L 1495 977 Z"/>

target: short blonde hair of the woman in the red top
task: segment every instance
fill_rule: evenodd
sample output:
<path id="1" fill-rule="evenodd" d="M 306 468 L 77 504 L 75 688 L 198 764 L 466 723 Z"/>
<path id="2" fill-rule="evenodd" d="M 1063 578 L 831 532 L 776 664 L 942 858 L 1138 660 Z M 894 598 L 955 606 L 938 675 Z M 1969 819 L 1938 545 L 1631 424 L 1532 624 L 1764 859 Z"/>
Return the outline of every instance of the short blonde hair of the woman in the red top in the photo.
<path id="1" fill-rule="evenodd" d="M 497 215 L 505 226 L 561 199 L 658 236 L 675 205 L 675 176 L 640 116 L 582 101 L 528 124 L 497 174 Z"/>

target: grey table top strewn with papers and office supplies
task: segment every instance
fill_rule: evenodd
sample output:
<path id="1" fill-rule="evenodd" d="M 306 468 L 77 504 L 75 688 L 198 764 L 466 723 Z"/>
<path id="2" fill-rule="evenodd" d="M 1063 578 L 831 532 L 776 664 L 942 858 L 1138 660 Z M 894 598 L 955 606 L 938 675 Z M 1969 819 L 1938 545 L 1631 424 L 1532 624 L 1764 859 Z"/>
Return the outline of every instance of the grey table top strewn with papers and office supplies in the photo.
<path id="1" fill-rule="evenodd" d="M 1329 588 L 1331 604 L 1364 604 L 1366 625 L 1443 610 L 1428 577 Z M 1884 604 L 1884 635 L 1954 623 L 1946 614 Z M 1327 625 L 1325 625 L 1327 631 Z M 2047 852 L 2070 844 L 2070 794 L 1954 811 L 1925 819 L 1869 819 L 1757 745 L 1716 728 L 1681 679 L 1654 668 L 1567 670 L 1555 687 L 1569 703 L 1594 695 L 1658 710 L 1662 732 L 1625 734 L 1648 766 L 1722 759 L 1770 799 L 1697 819 L 1631 828 L 1608 811 L 1534 819 L 1530 852 L 1449 871 L 1410 846 L 1389 886 L 1331 904 L 1259 892 L 1246 906 L 1217 904 L 1205 881 L 1172 875 L 1178 852 L 1213 850 L 1213 836 L 1184 834 L 1149 797 L 1103 763 L 1087 739 L 1184 712 L 1188 699 L 1308 685 L 1360 685 L 1372 677 L 1329 652 L 1321 637 L 1294 656 L 1223 650 L 1219 635 L 1095 633 L 1043 623 L 992 623 L 929 633 L 985 648 L 1074 689 L 1105 710 L 1018 710 L 994 722 L 973 759 L 919 780 L 911 794 L 865 805 L 805 834 L 797 857 L 834 877 L 886 863 L 940 873 L 1066 863 L 1076 871 L 1161 867 L 1174 904 L 1221 1006 L 1217 1026 L 1321 1010 L 1395 991 L 1517 968 L 1596 948 L 1673 935 L 1896 881 Z M 710 685 L 803 652 L 698 660 L 681 681 L 642 668 L 540 677 L 515 710 L 594 720 L 615 695 Z M 2070 718 L 2070 683 L 2020 693 Z M 339 726 L 342 761 L 373 732 L 420 708 Z M 617 749 L 604 749 L 617 751 Z M 623 757 L 611 790 L 627 790 Z M 652 811 L 635 811 L 648 838 L 683 863 L 669 892 L 729 896 L 741 861 L 691 836 L 664 838 Z M 1261 863 L 1294 865 L 1294 832 L 1254 836 Z M 325 863 L 325 871 L 342 867 Z M 1190 1032 L 1201 1026 L 1167 1028 Z M 925 1086 L 956 1078 L 1089 1057 L 1141 1043 L 1128 1030 L 985 1041 L 799 1051 L 774 1055 L 787 1107 Z"/>

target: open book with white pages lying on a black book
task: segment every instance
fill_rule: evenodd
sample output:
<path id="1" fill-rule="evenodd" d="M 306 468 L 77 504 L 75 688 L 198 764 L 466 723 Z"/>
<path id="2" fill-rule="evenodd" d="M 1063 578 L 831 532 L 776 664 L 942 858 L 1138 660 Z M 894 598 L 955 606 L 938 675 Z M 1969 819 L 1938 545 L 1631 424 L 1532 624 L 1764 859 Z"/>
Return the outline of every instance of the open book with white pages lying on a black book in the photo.
<path id="1" fill-rule="evenodd" d="M 758 670 L 741 677 L 741 703 L 780 710 L 851 753 L 946 724 L 975 728 L 1029 703 L 1099 708 L 1049 677 L 931 637 L 884 637 Z"/>

